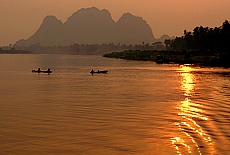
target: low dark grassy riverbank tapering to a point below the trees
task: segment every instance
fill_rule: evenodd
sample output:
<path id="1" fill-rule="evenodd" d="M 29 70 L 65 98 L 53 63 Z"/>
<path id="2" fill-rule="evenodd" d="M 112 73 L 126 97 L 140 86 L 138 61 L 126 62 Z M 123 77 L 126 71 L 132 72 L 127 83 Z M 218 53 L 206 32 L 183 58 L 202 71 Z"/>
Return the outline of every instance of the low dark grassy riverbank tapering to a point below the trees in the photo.
<path id="1" fill-rule="evenodd" d="M 230 67 L 230 54 L 204 50 L 193 51 L 140 51 L 126 50 L 104 54 L 107 58 L 154 61 L 159 64 L 194 64 L 199 66 Z"/>

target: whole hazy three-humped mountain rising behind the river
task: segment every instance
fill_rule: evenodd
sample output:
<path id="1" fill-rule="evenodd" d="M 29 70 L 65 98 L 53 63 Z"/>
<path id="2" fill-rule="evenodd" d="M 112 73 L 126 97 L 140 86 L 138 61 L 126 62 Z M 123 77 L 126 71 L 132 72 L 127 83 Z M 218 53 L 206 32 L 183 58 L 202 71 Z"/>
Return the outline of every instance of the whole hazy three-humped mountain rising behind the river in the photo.
<path id="1" fill-rule="evenodd" d="M 168 36 L 163 36 L 167 39 Z M 72 44 L 142 44 L 154 43 L 152 30 L 141 17 L 123 14 L 115 22 L 111 14 L 95 7 L 80 9 L 62 23 L 47 16 L 30 38 L 19 40 L 15 46 L 69 46 Z M 162 41 L 162 39 L 161 39 Z"/>

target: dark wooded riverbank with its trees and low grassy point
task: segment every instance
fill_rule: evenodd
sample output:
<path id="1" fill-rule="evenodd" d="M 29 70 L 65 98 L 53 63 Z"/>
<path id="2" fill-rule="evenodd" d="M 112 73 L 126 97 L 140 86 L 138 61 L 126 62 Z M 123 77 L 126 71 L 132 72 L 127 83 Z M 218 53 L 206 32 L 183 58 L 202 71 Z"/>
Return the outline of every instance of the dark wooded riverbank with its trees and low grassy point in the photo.
<path id="1" fill-rule="evenodd" d="M 195 64 L 200 66 L 230 67 L 230 24 L 196 27 L 184 31 L 182 37 L 165 40 L 166 50 L 126 50 L 105 54 L 104 57 L 157 63 Z"/>

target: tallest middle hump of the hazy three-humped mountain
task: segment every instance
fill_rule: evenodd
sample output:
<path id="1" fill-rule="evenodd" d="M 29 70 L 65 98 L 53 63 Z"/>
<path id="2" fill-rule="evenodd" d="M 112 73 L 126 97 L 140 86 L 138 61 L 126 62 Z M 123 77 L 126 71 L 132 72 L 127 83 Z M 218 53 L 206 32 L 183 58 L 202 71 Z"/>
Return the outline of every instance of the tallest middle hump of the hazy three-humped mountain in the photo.
<path id="1" fill-rule="evenodd" d="M 113 42 L 116 23 L 107 10 L 81 9 L 63 24 L 66 44 L 100 44 Z"/>

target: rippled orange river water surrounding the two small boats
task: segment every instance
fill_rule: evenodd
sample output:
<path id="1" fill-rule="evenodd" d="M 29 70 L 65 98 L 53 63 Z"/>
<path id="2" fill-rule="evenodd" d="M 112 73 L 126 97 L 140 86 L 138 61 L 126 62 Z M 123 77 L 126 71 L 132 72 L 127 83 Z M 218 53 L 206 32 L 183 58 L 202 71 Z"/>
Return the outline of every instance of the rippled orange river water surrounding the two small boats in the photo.
<path id="1" fill-rule="evenodd" d="M 0 55 L 0 114 L 1 155 L 227 155 L 230 69 Z"/>

